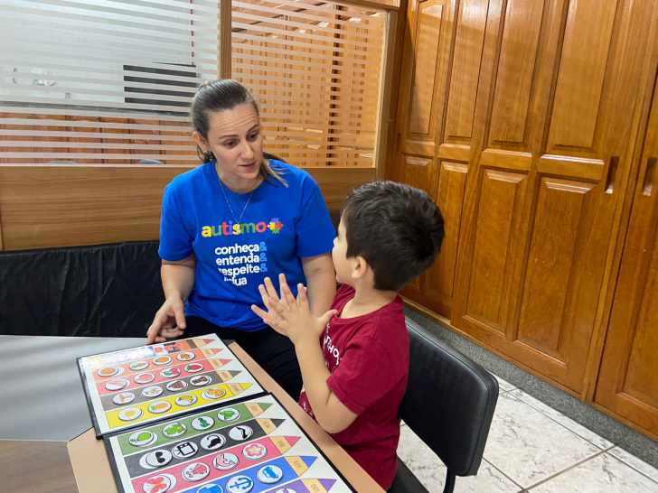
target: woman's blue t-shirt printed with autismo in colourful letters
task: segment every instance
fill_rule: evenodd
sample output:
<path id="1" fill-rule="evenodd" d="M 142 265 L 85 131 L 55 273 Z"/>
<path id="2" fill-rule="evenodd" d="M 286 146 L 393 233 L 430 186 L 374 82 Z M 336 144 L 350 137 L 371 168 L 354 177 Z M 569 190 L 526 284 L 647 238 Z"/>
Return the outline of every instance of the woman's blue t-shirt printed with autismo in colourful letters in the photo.
<path id="1" fill-rule="evenodd" d="M 296 294 L 296 285 L 306 284 L 301 257 L 332 250 L 334 226 L 315 180 L 289 164 L 269 163 L 287 188 L 270 177 L 271 183 L 263 181 L 250 199 L 249 193 L 224 186 L 225 198 L 211 161 L 164 189 L 158 253 L 171 262 L 196 256 L 185 315 L 220 327 L 260 330 L 263 321 L 250 308 L 263 304 L 258 284 L 269 277 L 278 290 L 278 274 L 284 273 Z M 234 224 L 233 215 L 240 224 Z"/>

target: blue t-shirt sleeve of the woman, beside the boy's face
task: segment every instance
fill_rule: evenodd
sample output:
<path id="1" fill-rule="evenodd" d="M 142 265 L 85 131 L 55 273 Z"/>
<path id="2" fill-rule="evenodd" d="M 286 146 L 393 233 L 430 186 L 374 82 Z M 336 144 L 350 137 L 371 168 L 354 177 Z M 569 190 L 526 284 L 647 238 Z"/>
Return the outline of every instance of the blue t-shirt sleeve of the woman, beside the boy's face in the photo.
<path id="1" fill-rule="evenodd" d="M 320 187 L 310 176 L 303 182 L 301 214 L 295 225 L 296 253 L 319 256 L 332 251 L 336 232 Z"/>

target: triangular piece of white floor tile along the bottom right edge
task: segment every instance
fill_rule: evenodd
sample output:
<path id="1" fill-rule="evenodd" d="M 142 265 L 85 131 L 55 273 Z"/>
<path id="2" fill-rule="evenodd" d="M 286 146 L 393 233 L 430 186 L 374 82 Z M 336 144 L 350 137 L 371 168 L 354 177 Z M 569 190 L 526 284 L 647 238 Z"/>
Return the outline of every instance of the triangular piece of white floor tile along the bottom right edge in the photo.
<path id="1" fill-rule="evenodd" d="M 656 493 L 658 484 L 616 460 L 602 453 L 592 460 L 550 479 L 531 493 Z"/>

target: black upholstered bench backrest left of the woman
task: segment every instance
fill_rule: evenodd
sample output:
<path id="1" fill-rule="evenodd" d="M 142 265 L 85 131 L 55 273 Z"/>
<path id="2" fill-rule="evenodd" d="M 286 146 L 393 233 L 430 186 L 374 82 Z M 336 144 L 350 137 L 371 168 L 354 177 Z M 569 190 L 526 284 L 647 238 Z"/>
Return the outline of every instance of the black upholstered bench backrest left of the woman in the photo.
<path id="1" fill-rule="evenodd" d="M 158 245 L 0 252 L 0 334 L 145 337 L 164 302 Z"/>

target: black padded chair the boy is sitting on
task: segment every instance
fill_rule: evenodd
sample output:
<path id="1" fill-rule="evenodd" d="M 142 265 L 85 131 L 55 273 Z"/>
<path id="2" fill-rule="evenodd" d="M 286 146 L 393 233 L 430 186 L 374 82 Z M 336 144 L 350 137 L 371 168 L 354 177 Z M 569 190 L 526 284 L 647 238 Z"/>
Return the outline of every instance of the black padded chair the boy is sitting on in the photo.
<path id="1" fill-rule="evenodd" d="M 409 384 L 399 415 L 446 464 L 443 493 L 452 493 L 456 476 L 474 476 L 480 468 L 498 400 L 498 381 L 416 322 L 407 319 L 407 330 Z M 389 493 L 421 492 L 428 489 L 398 459 Z"/>

